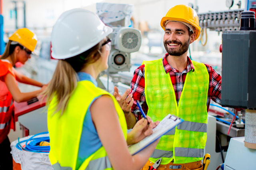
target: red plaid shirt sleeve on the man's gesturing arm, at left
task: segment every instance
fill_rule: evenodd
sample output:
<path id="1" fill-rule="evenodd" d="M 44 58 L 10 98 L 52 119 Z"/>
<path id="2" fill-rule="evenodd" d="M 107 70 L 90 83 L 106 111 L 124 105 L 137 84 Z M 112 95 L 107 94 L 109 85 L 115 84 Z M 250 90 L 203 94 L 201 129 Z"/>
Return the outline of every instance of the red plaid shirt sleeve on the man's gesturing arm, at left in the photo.
<path id="1" fill-rule="evenodd" d="M 138 67 L 133 74 L 132 82 L 131 82 L 131 91 L 132 97 L 134 99 L 134 103 L 132 105 L 131 112 L 135 115 L 136 120 L 140 120 L 142 115 L 140 113 L 139 108 L 136 105 L 136 101 L 138 101 L 142 107 L 142 110 L 147 115 L 148 112 L 148 105 L 146 103 L 145 98 L 145 79 L 144 79 L 144 65 Z"/>

